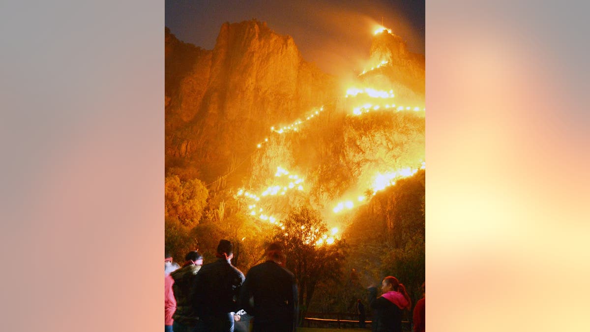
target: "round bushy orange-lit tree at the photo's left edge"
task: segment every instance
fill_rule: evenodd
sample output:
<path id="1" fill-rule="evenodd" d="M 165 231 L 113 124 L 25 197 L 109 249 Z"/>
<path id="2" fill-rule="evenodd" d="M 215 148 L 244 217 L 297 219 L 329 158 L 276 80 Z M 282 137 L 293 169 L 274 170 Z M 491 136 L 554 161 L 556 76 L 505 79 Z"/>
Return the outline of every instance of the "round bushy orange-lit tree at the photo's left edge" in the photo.
<path id="1" fill-rule="evenodd" d="M 209 193 L 201 180 L 181 181 L 178 175 L 166 177 L 165 216 L 176 218 L 186 227 L 199 223 Z"/>

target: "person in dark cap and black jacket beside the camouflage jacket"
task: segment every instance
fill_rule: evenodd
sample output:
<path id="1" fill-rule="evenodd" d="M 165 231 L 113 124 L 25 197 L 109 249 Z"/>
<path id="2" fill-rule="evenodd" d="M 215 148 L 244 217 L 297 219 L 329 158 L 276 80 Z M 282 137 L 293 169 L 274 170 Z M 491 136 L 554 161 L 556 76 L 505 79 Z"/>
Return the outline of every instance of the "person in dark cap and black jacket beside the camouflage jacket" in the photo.
<path id="1" fill-rule="evenodd" d="M 244 274 L 233 265 L 233 245 L 220 240 L 218 260 L 202 266 L 196 274 L 192 303 L 199 322 L 196 331 L 233 332 L 234 312 L 238 311 L 237 297 L 244 282 Z"/>

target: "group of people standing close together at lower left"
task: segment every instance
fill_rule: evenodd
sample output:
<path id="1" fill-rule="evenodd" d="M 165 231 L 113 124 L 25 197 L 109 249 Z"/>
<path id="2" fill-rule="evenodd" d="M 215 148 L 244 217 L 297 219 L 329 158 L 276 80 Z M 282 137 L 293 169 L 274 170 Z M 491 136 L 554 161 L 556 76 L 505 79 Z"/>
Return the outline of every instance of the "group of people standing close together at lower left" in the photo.
<path id="1" fill-rule="evenodd" d="M 168 255 L 166 255 L 168 256 Z M 244 276 L 231 265 L 233 246 L 220 240 L 217 260 L 203 265 L 196 251 L 186 254 L 182 268 L 165 260 L 165 331 L 247 332 L 295 330 L 297 284 L 284 268 L 280 243 L 271 243 L 266 261 Z"/>

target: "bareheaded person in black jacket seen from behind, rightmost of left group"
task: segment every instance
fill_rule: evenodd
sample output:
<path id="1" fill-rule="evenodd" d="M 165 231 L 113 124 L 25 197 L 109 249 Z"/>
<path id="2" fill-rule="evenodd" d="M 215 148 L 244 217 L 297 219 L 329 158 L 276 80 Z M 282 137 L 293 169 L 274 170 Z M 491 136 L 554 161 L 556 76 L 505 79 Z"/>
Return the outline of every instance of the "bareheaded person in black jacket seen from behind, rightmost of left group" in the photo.
<path id="1" fill-rule="evenodd" d="M 266 250 L 266 262 L 248 271 L 240 292 L 242 308 L 254 316 L 254 332 L 293 332 L 297 322 L 297 284 L 284 268 L 280 242 Z"/>

